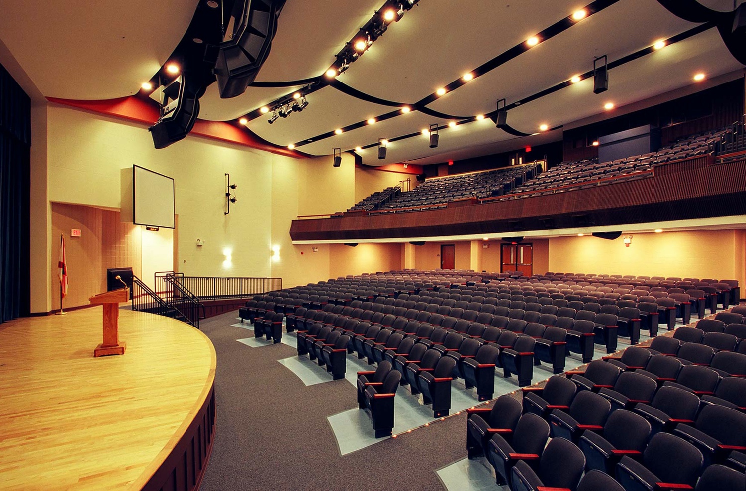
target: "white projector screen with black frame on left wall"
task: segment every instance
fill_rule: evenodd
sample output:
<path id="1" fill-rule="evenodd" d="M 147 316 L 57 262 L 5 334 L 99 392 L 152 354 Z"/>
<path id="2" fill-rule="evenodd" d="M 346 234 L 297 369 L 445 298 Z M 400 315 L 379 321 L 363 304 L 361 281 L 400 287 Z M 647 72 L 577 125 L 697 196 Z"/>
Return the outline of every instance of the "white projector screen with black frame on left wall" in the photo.
<path id="1" fill-rule="evenodd" d="M 137 165 L 132 171 L 134 223 L 174 228 L 174 180 Z"/>

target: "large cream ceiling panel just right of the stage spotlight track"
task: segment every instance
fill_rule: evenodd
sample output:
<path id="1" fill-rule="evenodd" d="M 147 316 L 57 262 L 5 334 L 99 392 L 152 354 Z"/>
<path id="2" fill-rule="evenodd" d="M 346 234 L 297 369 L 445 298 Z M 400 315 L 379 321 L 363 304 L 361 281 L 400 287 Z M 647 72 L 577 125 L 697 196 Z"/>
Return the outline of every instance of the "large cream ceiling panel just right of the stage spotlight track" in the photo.
<path id="1" fill-rule="evenodd" d="M 422 0 L 339 80 L 370 95 L 411 104 L 586 3 Z"/>

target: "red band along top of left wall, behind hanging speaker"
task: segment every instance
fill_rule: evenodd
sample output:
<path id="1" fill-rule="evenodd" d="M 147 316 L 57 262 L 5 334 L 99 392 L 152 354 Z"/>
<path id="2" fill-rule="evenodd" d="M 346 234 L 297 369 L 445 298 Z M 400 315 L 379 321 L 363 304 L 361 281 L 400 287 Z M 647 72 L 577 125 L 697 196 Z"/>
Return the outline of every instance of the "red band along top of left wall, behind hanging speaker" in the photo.
<path id="1" fill-rule="evenodd" d="M 145 101 L 134 95 L 118 99 L 107 99 L 105 101 L 75 101 L 72 99 L 58 99 L 54 97 L 48 97 L 47 101 L 54 102 L 55 104 L 62 104 L 64 106 L 76 107 L 93 113 L 113 116 L 114 118 L 136 121 L 138 123 L 146 124 L 147 126 L 154 124 L 160 116 L 157 104 L 151 102 L 149 99 Z M 222 142 L 245 145 L 246 147 L 291 156 L 296 159 L 303 159 L 310 156 L 304 152 L 273 145 L 251 132 L 251 130 L 241 129 L 236 126 L 236 124 L 227 123 L 225 121 L 206 121 L 204 119 L 198 119 L 194 124 L 194 128 L 192 128 L 192 132 L 189 134 L 205 136 Z"/>

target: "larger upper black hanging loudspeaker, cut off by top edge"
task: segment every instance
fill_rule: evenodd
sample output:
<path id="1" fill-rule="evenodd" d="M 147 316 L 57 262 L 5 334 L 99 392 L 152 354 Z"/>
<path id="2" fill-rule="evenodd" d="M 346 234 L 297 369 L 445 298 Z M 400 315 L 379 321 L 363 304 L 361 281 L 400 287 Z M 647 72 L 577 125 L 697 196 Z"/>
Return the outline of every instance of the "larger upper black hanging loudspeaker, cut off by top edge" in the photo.
<path id="1" fill-rule="evenodd" d="M 215 66 L 220 97 L 241 95 L 259 73 L 277 31 L 286 0 L 238 0 L 233 4 L 233 37 L 222 42 Z"/>

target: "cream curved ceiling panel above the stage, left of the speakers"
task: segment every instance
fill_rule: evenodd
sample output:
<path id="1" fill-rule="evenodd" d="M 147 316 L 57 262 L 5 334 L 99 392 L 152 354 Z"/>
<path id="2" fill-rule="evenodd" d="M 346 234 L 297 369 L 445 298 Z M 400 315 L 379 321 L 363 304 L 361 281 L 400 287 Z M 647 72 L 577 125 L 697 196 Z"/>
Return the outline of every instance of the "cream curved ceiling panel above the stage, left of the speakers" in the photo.
<path id="1" fill-rule="evenodd" d="M 197 4 L 6 1 L 0 37 L 46 97 L 125 97 L 160 69 L 184 36 Z"/>

